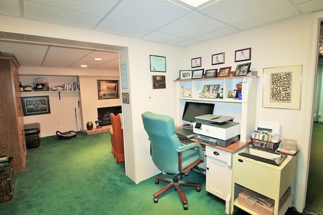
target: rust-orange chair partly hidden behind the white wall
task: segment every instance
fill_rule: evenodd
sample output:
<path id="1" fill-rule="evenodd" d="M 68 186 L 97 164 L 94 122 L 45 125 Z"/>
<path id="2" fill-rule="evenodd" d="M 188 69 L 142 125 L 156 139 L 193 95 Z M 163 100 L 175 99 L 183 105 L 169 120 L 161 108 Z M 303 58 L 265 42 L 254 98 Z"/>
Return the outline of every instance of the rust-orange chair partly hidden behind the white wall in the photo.
<path id="1" fill-rule="evenodd" d="M 123 129 L 121 127 L 120 115 L 115 116 L 114 113 L 110 114 L 112 128 L 110 128 L 111 135 L 111 152 L 115 156 L 116 162 L 125 161 L 125 152 L 123 146 Z"/>

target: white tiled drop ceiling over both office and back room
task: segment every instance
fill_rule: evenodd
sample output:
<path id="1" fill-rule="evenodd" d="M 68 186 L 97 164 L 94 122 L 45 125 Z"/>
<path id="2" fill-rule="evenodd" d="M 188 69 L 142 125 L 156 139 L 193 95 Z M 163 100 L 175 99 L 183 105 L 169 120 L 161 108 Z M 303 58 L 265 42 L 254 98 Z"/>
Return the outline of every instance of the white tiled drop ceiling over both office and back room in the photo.
<path id="1" fill-rule="evenodd" d="M 0 15 L 182 47 L 323 10 L 322 0 L 211 0 L 197 8 L 177 0 L 0 0 L 0 5 Z M 9 42 L 8 37 L 1 32 L 0 51 L 15 55 L 22 66 L 119 67 L 114 49 Z M 103 56 L 104 62 L 93 62 L 96 56 Z"/>

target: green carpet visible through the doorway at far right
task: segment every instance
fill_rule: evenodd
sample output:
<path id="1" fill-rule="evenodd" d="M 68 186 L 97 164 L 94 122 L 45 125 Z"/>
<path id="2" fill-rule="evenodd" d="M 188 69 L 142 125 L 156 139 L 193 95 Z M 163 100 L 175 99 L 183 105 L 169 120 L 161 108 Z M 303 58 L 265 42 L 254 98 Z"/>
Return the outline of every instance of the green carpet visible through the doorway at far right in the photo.
<path id="1" fill-rule="evenodd" d="M 323 123 L 314 122 L 305 209 L 323 214 Z"/>

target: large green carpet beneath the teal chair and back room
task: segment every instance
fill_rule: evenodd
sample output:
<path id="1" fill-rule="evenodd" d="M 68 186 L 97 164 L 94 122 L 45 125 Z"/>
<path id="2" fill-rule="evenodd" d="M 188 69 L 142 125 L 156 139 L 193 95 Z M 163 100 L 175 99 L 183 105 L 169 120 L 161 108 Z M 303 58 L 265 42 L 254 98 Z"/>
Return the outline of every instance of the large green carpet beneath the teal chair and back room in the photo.
<path id="1" fill-rule="evenodd" d="M 203 174 L 191 171 L 183 180 L 202 183 L 199 193 L 183 187 L 188 210 L 173 189 L 153 203 L 152 193 L 165 183 L 156 185 L 151 177 L 136 185 L 125 176 L 108 132 L 77 133 L 70 140 L 44 137 L 38 148 L 28 149 L 14 199 L 0 204 L 0 214 L 226 214 L 225 201 L 205 191 Z M 234 214 L 247 213 L 235 208 Z"/>

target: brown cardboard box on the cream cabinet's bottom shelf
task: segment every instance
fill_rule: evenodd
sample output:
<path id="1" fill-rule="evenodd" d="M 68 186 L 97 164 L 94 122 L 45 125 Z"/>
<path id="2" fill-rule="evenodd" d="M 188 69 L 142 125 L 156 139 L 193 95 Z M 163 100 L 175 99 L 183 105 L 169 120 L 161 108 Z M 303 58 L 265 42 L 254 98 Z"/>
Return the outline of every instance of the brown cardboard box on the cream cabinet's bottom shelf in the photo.
<path id="1" fill-rule="evenodd" d="M 238 203 L 261 215 L 274 214 L 274 204 L 271 207 L 267 207 L 260 204 L 256 199 L 252 198 L 250 195 L 244 192 L 238 194 Z"/>

